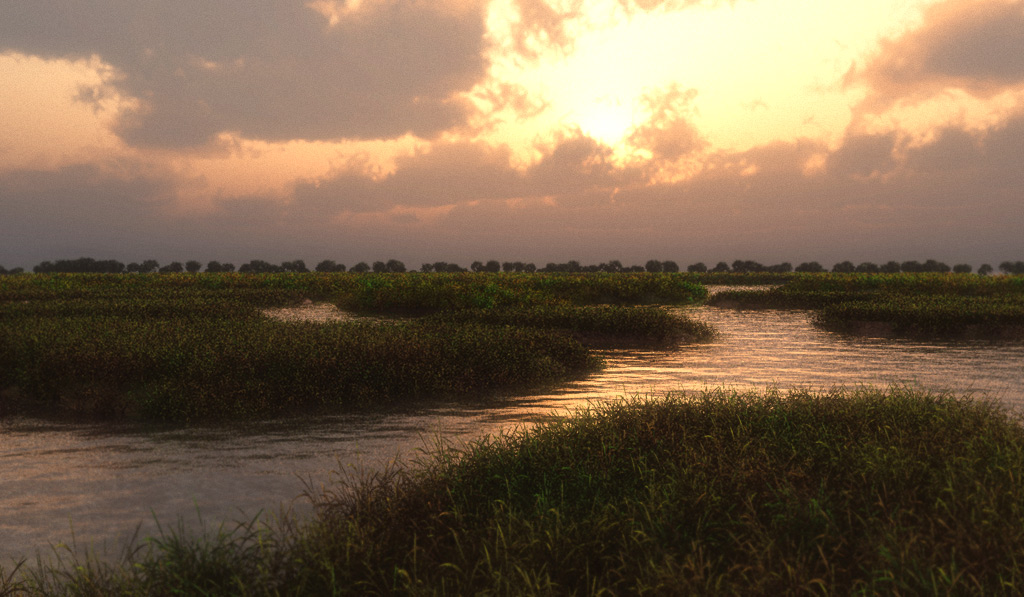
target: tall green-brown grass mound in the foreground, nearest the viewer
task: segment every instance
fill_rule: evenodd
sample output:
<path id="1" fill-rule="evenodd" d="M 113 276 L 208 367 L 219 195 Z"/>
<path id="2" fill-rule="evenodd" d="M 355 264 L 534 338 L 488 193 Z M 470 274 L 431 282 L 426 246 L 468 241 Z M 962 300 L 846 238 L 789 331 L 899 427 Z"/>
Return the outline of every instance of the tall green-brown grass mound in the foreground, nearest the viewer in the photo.
<path id="1" fill-rule="evenodd" d="M 1020 421 L 968 397 L 642 397 L 440 450 L 310 522 L 165 535 L 0 593 L 1020 593 L 1021 470 Z"/>

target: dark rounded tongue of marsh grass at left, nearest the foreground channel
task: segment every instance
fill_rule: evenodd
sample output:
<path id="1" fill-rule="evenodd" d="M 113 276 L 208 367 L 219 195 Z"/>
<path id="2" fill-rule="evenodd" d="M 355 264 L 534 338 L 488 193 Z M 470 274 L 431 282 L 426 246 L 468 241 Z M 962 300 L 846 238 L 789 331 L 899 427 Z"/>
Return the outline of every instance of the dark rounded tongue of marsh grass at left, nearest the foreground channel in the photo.
<path id="1" fill-rule="evenodd" d="M 567 336 L 474 324 L 40 318 L 0 343 L 0 385 L 27 413 L 179 422 L 485 395 L 598 366 Z"/>

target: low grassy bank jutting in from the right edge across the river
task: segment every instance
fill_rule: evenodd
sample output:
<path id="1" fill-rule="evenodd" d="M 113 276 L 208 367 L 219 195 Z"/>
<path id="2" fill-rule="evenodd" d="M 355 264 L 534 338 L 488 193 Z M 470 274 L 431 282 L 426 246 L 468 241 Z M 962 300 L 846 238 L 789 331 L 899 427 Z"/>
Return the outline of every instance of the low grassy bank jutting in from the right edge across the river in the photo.
<path id="1" fill-rule="evenodd" d="M 771 290 L 721 292 L 710 304 L 815 309 L 821 327 L 854 334 L 1024 339 L 1024 276 L 819 273 Z"/>

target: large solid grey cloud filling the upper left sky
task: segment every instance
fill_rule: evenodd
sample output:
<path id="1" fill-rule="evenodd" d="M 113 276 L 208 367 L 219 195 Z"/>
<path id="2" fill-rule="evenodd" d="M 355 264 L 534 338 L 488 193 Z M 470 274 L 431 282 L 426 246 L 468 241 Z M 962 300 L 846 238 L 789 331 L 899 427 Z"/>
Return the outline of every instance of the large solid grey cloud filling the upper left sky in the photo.
<path id="1" fill-rule="evenodd" d="M 111 65 L 139 102 L 117 125 L 133 143 L 429 138 L 486 73 L 485 6 L 466 4 L 368 1 L 332 27 L 288 0 L 4 2 L 0 52 Z"/>

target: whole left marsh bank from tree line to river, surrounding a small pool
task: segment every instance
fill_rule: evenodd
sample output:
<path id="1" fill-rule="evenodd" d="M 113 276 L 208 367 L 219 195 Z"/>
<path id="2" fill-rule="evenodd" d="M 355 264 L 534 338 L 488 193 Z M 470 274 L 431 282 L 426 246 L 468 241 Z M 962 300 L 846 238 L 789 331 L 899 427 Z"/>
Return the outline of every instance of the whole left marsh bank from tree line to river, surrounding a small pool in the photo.
<path id="1" fill-rule="evenodd" d="M 706 326 L 634 304 L 705 296 L 659 274 L 4 276 L 0 416 L 191 422 L 528 391 L 599 367 L 588 347 L 709 338 Z M 303 300 L 425 316 L 260 313 Z"/>

